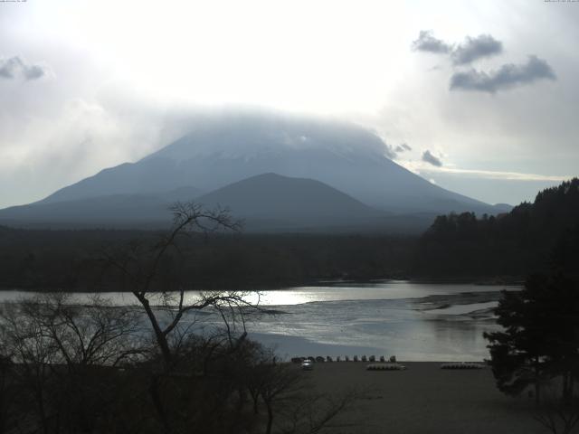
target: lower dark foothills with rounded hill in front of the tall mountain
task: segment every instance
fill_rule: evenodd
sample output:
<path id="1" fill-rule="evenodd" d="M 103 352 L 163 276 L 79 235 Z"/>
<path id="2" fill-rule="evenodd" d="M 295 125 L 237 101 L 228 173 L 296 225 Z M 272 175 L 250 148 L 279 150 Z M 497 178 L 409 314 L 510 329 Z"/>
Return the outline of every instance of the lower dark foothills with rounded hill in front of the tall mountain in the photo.
<path id="1" fill-rule="evenodd" d="M 197 189 L 159 195 L 109 194 L 62 202 L 14 206 L 0 221 L 20 226 L 158 228 L 171 222 L 169 206 L 191 200 Z M 252 176 L 195 198 L 207 208 L 228 207 L 246 231 L 346 231 L 384 228 L 377 211 L 319 181 L 276 174 Z"/>

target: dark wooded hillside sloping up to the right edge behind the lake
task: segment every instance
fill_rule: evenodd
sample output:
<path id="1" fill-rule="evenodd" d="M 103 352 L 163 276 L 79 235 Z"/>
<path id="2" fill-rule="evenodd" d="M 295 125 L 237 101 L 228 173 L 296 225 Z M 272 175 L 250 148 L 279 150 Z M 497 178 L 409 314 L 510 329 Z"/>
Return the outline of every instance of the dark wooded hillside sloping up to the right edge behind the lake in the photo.
<path id="1" fill-rule="evenodd" d="M 565 249 L 578 230 L 579 179 L 574 178 L 498 216 L 437 217 L 416 246 L 413 276 L 524 278 L 532 271 L 547 272 L 551 251 Z"/>

